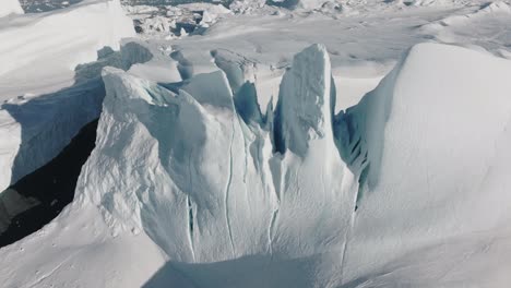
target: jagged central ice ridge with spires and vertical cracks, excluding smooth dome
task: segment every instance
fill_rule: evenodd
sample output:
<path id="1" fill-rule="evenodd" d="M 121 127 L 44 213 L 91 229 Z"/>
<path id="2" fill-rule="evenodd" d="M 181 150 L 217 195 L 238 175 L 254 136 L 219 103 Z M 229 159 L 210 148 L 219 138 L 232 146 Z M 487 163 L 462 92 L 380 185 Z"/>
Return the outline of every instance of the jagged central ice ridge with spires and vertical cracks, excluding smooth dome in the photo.
<path id="1" fill-rule="evenodd" d="M 186 263 L 343 250 L 357 183 L 334 141 L 324 47 L 295 57 L 275 118 L 262 116 L 252 83 L 233 95 L 222 71 L 178 93 L 120 70 L 103 77 L 99 136 L 78 193 L 115 233 L 144 230 Z"/>

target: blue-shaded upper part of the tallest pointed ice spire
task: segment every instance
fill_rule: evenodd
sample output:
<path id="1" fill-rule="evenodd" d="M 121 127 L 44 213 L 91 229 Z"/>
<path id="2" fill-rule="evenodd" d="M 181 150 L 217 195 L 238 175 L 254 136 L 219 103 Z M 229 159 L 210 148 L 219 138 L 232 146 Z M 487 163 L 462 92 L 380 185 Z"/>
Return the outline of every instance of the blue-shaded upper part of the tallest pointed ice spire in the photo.
<path id="1" fill-rule="evenodd" d="M 326 48 L 314 44 L 295 56 L 281 83 L 275 147 L 304 155 L 312 140 L 332 139 L 332 71 Z"/>

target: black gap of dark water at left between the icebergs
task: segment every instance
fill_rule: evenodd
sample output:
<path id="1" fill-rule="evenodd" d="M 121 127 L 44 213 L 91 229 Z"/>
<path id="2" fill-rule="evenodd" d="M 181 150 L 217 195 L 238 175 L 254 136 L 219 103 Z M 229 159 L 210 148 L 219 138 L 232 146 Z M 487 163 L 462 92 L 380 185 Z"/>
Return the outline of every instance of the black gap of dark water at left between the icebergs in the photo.
<path id="1" fill-rule="evenodd" d="M 97 123 L 83 127 L 56 158 L 0 193 L 0 247 L 39 230 L 73 201 L 82 166 L 95 147 Z"/>

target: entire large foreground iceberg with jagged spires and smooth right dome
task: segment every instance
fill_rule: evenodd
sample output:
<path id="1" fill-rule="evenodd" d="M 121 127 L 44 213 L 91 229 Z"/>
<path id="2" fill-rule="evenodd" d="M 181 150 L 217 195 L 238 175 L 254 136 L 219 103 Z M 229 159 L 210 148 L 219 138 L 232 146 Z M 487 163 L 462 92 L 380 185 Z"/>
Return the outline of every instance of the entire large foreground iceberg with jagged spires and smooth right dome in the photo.
<path id="1" fill-rule="evenodd" d="M 107 68 L 74 202 L 0 250 L 23 260 L 0 263 L 0 276 L 37 269 L 27 284 L 58 287 L 108 278 L 94 272 L 146 287 L 506 287 L 510 73 L 507 60 L 423 44 L 334 115 L 342 91 L 320 45 L 294 58 L 265 113 L 252 83 L 233 93 L 222 71 L 163 86 Z M 151 268 L 126 263 L 139 252 Z"/>

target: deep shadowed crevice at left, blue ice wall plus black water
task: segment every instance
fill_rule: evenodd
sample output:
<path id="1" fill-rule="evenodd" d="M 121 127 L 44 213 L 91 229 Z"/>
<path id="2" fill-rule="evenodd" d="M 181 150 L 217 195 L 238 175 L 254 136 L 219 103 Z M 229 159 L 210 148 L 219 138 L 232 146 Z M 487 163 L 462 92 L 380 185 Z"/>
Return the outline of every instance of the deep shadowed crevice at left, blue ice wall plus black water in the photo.
<path id="1" fill-rule="evenodd" d="M 1 106 L 19 123 L 21 144 L 10 167 L 14 184 L 0 193 L 0 245 L 41 228 L 73 200 L 81 167 L 94 148 L 94 119 L 105 96 L 103 68 L 128 70 L 153 58 L 138 43 L 127 43 L 120 51 L 105 47 L 97 56 L 97 61 L 74 69 L 73 86 Z"/>

